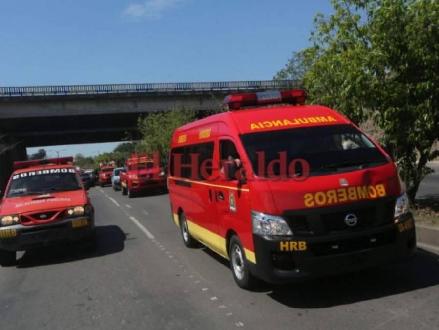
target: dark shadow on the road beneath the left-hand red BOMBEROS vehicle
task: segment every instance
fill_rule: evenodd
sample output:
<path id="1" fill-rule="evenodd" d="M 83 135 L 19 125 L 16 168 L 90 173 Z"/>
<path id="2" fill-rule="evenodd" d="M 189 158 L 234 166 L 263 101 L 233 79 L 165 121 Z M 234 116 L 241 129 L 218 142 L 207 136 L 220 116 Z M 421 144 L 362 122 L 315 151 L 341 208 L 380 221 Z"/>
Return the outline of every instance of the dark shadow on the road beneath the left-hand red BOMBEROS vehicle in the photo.
<path id="1" fill-rule="evenodd" d="M 97 246 L 87 251 L 81 242 L 53 245 L 26 251 L 17 260 L 17 268 L 29 268 L 50 264 L 62 264 L 76 260 L 101 257 L 121 252 L 124 249 L 125 233 L 119 226 L 96 226 Z"/>

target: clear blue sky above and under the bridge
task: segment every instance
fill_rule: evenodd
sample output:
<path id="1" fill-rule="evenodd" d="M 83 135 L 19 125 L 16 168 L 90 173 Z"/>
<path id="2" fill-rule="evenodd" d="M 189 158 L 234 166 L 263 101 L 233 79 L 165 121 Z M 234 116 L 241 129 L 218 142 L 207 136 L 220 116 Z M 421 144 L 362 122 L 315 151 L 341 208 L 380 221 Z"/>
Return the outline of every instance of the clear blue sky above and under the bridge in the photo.
<path id="1" fill-rule="evenodd" d="M 270 79 L 331 11 L 329 0 L 3 1 L 0 85 Z"/>

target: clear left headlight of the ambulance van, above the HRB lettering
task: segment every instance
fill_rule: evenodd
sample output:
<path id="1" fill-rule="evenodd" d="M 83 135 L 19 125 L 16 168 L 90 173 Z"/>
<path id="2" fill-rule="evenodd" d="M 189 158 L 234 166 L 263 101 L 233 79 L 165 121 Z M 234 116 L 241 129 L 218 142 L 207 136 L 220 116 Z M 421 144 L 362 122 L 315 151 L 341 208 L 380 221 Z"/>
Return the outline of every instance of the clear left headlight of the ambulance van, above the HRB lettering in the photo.
<path id="1" fill-rule="evenodd" d="M 253 233 L 259 235 L 293 235 L 287 222 L 279 216 L 251 211 Z"/>

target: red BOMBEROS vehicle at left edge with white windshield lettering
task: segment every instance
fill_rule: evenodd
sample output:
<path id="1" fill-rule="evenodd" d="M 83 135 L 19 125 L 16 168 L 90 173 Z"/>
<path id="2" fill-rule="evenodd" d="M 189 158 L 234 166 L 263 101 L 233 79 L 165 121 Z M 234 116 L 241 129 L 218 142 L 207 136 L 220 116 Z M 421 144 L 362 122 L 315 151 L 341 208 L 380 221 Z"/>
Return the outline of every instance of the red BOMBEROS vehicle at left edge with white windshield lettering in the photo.
<path id="1" fill-rule="evenodd" d="M 95 246 L 94 208 L 73 157 L 19 161 L 0 200 L 0 264 L 16 251 L 78 242 Z"/>

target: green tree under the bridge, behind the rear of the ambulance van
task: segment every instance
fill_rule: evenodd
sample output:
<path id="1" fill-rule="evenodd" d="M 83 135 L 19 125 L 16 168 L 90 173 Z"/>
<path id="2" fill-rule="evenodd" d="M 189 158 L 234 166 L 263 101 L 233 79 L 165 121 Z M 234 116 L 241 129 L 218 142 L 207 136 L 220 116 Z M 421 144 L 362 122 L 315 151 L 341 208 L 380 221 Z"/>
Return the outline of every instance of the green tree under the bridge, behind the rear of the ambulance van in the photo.
<path id="1" fill-rule="evenodd" d="M 139 150 L 151 154 L 160 153 L 160 161 L 167 163 L 172 133 L 176 128 L 197 118 L 197 111 L 174 109 L 167 112 L 155 112 L 139 118 L 138 129 L 143 136 Z"/>

